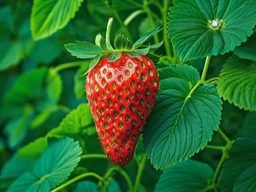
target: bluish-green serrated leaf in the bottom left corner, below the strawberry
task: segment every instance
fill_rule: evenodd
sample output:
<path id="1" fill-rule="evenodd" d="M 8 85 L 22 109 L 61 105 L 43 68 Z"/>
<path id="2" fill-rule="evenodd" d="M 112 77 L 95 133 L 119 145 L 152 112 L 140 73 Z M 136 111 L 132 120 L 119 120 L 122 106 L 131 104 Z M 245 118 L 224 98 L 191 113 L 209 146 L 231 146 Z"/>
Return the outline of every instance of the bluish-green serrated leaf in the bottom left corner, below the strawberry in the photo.
<path id="1" fill-rule="evenodd" d="M 70 138 L 57 140 L 35 162 L 32 170 L 16 179 L 8 191 L 50 191 L 70 176 L 81 153 L 77 141 Z"/>

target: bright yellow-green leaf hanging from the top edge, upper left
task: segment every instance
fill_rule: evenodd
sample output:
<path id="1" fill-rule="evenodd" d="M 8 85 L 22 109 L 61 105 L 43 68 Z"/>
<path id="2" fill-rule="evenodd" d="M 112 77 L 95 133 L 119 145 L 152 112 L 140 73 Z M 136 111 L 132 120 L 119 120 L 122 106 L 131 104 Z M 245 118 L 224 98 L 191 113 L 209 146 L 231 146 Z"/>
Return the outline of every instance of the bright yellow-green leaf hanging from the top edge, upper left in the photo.
<path id="1" fill-rule="evenodd" d="M 34 39 L 46 38 L 65 27 L 83 0 L 35 0 L 31 14 Z"/>

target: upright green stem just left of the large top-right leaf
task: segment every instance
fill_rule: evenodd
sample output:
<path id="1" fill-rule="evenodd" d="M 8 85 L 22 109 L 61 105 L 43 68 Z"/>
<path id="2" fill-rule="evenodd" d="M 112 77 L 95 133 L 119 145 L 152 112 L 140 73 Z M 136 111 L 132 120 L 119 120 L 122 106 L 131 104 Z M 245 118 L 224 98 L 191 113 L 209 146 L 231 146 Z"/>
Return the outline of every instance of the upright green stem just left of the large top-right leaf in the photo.
<path id="1" fill-rule="evenodd" d="M 165 52 L 167 56 L 172 57 L 172 49 L 171 49 L 171 44 L 170 40 L 168 39 L 167 35 L 167 13 L 168 13 L 168 8 L 169 8 L 169 0 L 164 0 L 163 2 L 163 9 L 162 9 L 162 20 L 163 20 L 163 40 L 164 40 L 164 47 L 165 47 Z M 175 61 L 177 58 L 175 59 Z M 176 61 L 177 62 L 177 61 Z"/>

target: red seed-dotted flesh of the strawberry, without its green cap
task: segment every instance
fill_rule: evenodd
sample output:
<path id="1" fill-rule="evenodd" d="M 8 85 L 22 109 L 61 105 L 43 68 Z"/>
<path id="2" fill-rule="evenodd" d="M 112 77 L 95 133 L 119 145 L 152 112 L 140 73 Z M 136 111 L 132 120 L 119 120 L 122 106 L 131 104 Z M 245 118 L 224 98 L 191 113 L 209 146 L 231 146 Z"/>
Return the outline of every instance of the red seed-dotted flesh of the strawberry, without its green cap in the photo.
<path id="1" fill-rule="evenodd" d="M 125 53 L 104 57 L 89 72 L 86 93 L 104 153 L 117 165 L 129 163 L 159 90 L 152 60 Z"/>

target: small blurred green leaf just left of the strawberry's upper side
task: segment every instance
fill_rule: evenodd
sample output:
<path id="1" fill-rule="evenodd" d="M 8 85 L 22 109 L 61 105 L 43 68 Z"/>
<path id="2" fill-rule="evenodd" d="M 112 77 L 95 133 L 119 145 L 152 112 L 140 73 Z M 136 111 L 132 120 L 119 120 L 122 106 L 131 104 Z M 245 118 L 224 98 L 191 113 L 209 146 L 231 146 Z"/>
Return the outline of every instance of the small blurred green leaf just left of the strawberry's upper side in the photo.
<path id="1" fill-rule="evenodd" d="M 75 94 L 77 99 L 81 99 L 86 95 L 84 91 L 84 82 L 86 79 L 82 77 L 82 75 L 88 71 L 89 69 L 90 62 L 89 61 L 84 61 L 84 64 L 80 69 L 77 70 L 75 76 L 74 76 L 74 81 L 75 81 Z"/>

